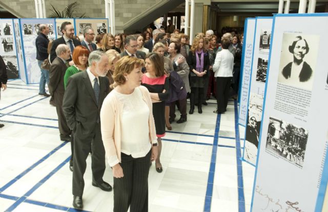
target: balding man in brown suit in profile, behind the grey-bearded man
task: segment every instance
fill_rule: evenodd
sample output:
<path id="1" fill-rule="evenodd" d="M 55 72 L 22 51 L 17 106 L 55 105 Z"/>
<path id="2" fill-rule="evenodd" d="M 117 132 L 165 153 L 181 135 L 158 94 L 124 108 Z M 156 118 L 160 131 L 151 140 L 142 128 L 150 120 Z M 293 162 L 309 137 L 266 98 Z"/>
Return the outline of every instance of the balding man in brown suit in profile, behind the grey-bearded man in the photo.
<path id="1" fill-rule="evenodd" d="M 71 56 L 71 50 L 66 44 L 59 44 L 56 48 L 57 57 L 52 61 L 50 66 L 49 92 L 52 102 L 56 106 L 58 115 L 58 127 L 60 140 L 70 141 L 71 130 L 67 125 L 63 112 L 63 97 L 65 93 L 64 76 L 66 73 L 67 62 Z"/>

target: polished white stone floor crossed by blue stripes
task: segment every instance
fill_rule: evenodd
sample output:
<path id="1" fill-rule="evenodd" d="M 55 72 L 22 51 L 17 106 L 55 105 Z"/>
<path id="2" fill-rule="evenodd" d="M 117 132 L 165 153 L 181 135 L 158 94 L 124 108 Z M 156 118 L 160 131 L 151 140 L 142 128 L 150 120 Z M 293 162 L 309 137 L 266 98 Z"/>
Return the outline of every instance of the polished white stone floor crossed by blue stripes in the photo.
<path id="1" fill-rule="evenodd" d="M 0 211 L 77 211 L 72 208 L 70 143 L 60 141 L 55 108 L 38 95 L 38 84 L 8 82 L 1 94 Z M 163 172 L 149 174 L 149 211 L 250 211 L 255 168 L 240 161 L 244 129 L 237 102 L 214 114 L 173 123 L 163 139 Z M 178 116 L 178 115 L 177 115 Z M 91 157 L 85 174 L 84 210 L 112 211 L 113 193 L 91 185 Z M 104 180 L 113 183 L 110 167 Z"/>

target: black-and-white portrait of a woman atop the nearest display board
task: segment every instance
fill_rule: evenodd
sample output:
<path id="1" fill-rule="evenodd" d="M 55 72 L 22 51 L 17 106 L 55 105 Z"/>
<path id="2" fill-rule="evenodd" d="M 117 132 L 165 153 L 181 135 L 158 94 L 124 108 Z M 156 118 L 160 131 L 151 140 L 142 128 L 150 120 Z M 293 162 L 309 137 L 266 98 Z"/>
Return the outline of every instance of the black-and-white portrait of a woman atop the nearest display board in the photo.
<path id="1" fill-rule="evenodd" d="M 278 82 L 312 90 L 319 36 L 284 33 Z"/>

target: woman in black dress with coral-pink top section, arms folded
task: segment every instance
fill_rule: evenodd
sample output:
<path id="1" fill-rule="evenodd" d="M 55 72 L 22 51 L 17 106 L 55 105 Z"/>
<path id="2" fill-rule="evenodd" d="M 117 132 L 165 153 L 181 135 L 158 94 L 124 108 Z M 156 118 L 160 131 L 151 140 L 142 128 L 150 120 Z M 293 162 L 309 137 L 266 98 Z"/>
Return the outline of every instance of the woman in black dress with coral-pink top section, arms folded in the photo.
<path id="1" fill-rule="evenodd" d="M 169 78 L 165 74 L 163 57 L 152 52 L 146 55 L 145 62 L 147 73 L 142 76 L 141 84 L 148 89 L 153 102 L 153 116 L 158 142 L 158 157 L 155 167 L 156 171 L 161 173 L 163 171 L 160 163 L 161 137 L 165 136 L 165 100 L 170 95 L 170 84 Z"/>

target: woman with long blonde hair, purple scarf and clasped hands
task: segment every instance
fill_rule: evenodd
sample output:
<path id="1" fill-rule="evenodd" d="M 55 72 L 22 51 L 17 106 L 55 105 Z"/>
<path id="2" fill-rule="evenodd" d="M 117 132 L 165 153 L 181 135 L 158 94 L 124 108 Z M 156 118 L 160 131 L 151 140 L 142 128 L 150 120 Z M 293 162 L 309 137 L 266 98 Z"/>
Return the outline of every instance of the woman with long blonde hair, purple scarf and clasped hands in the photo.
<path id="1" fill-rule="evenodd" d="M 201 101 L 203 99 L 205 77 L 210 67 L 209 54 L 204 51 L 204 38 L 195 37 L 188 55 L 188 65 L 190 69 L 190 111 L 194 113 L 195 102 L 198 103 L 198 113 L 202 113 Z"/>

